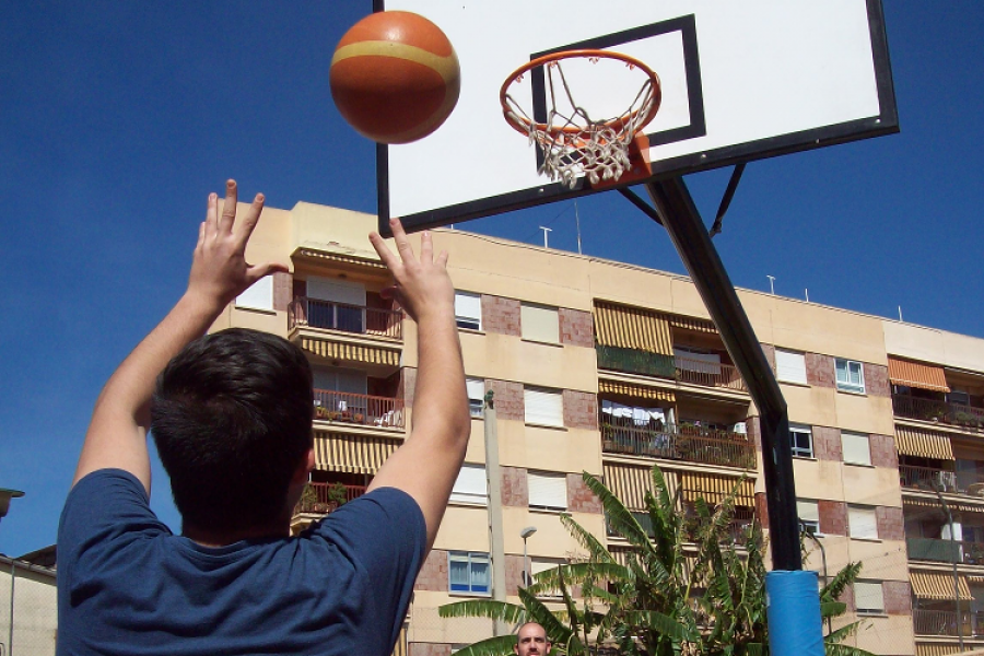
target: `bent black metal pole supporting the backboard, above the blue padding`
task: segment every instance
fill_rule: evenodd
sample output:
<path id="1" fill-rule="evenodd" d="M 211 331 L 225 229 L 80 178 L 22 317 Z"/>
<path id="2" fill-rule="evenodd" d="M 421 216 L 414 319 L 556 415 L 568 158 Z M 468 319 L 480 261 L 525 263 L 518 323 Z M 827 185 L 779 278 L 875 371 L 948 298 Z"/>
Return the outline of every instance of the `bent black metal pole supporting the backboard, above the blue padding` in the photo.
<path id="1" fill-rule="evenodd" d="M 803 570 L 786 401 L 683 179 L 646 188 L 759 409 L 773 569 Z"/>

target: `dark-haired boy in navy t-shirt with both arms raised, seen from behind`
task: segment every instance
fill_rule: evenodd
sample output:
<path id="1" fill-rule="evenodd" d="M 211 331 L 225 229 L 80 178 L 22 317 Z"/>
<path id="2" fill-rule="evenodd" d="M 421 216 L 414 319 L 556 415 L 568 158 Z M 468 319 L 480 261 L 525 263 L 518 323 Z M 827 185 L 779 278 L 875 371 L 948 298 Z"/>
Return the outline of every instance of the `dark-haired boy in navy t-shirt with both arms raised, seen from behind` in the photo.
<path id="1" fill-rule="evenodd" d="M 434 541 L 470 427 L 447 255 L 371 241 L 419 326 L 413 430 L 367 493 L 297 538 L 294 504 L 314 462 L 312 373 L 286 341 L 201 337 L 250 284 L 257 196 L 236 218 L 209 197 L 188 289 L 109 378 L 59 526 L 59 654 L 389 654 Z M 150 511 L 145 433 L 181 513 Z"/>

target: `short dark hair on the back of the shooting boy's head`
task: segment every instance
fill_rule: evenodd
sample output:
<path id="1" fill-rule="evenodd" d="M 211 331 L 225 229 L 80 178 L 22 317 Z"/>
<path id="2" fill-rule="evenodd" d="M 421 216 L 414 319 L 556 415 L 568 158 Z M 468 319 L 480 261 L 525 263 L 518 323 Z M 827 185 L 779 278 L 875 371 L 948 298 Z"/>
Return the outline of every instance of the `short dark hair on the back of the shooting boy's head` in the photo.
<path id="1" fill-rule="evenodd" d="M 195 340 L 157 377 L 151 431 L 185 524 L 269 526 L 312 445 L 311 365 L 286 340 L 232 328 Z"/>

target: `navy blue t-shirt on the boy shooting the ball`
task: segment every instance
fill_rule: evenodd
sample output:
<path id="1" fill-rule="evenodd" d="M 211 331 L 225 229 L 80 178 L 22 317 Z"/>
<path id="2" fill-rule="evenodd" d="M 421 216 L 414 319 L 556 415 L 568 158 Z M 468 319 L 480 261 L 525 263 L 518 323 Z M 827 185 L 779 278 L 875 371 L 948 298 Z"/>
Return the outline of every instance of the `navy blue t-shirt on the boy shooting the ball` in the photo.
<path id="1" fill-rule="evenodd" d="M 380 488 L 296 538 L 202 547 L 96 471 L 58 529 L 58 654 L 386 656 L 425 546 L 417 502 Z"/>

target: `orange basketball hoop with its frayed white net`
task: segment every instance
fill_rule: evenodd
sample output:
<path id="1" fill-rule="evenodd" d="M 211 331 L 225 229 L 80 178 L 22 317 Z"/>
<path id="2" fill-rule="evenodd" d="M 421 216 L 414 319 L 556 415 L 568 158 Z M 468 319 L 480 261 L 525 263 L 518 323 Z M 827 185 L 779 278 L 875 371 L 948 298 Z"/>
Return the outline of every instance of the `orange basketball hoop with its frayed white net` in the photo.
<path id="1" fill-rule="evenodd" d="M 642 86 L 622 114 L 594 119 L 574 101 L 561 66 L 567 59 L 586 60 L 595 66 L 601 61 L 620 62 L 644 78 Z M 526 73 L 539 67 L 544 67 L 547 73 L 544 122 L 531 119 L 529 114 L 532 112 L 525 112 L 509 93 Z M 629 147 L 636 132 L 656 116 L 661 98 L 659 78 L 649 67 L 628 55 L 608 50 L 566 50 L 538 57 L 516 69 L 499 92 L 506 122 L 542 150 L 543 164 L 538 173 L 551 180 L 559 179 L 572 189 L 582 175 L 587 176 L 591 185 L 597 185 L 600 180 L 617 180 L 632 168 Z M 565 107 L 564 103 L 570 106 Z"/>

